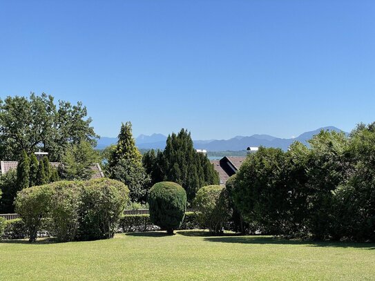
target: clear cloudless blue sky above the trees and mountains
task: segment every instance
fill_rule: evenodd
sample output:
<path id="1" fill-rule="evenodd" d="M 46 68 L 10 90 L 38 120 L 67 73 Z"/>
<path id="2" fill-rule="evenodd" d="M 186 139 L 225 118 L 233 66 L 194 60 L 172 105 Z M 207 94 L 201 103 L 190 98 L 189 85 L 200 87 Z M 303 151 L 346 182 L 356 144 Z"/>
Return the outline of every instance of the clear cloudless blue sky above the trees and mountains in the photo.
<path id="1" fill-rule="evenodd" d="M 0 1 L 0 97 L 83 101 L 99 135 L 375 121 L 375 1 Z"/>

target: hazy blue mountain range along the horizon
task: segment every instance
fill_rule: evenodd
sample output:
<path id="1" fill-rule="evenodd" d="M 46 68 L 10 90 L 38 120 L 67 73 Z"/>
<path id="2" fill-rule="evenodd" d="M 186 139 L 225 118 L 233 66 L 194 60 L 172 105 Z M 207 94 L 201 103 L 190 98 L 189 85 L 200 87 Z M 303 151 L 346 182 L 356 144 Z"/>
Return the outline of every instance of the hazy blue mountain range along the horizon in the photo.
<path id="1" fill-rule="evenodd" d="M 207 151 L 244 151 L 249 146 L 265 146 L 275 147 L 287 150 L 287 148 L 295 141 L 307 144 L 307 140 L 318 134 L 320 130 L 334 130 L 340 132 L 339 128 L 334 126 L 327 126 L 302 133 L 298 137 L 290 139 L 282 139 L 280 137 L 273 137 L 271 135 L 251 135 L 251 136 L 235 136 L 231 139 L 210 139 L 210 140 L 195 140 L 194 147 L 196 149 L 206 149 Z M 348 134 L 348 133 L 345 133 Z M 117 137 L 101 137 L 97 141 L 97 148 L 103 149 L 110 144 L 115 144 Z M 166 144 L 166 136 L 162 134 L 140 135 L 135 139 L 135 143 L 140 149 L 164 149 Z"/>

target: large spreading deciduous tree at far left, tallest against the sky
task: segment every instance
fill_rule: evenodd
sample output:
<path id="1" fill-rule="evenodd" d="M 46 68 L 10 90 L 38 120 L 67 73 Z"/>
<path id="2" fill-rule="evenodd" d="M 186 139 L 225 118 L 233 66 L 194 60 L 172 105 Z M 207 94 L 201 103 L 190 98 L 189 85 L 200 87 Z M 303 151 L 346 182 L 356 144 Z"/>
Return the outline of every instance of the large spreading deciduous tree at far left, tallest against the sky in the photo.
<path id="1" fill-rule="evenodd" d="M 59 101 L 50 95 L 0 99 L 0 159 L 19 159 L 22 151 L 48 152 L 53 162 L 60 162 L 69 144 L 82 140 L 95 146 L 95 134 L 86 118 L 86 107 L 78 102 Z"/>

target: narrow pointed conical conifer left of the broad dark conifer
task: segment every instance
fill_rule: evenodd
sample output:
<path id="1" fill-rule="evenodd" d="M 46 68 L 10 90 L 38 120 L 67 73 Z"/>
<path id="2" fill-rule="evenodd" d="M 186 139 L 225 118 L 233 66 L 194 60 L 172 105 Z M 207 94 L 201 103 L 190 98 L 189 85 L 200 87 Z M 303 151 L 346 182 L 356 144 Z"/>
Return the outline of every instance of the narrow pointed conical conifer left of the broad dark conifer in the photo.
<path id="1" fill-rule="evenodd" d="M 128 186 L 133 202 L 146 202 L 150 188 L 150 177 L 142 166 L 142 156 L 135 146 L 131 122 L 122 124 L 117 145 L 111 146 L 106 165 L 106 173 L 111 179 Z"/>

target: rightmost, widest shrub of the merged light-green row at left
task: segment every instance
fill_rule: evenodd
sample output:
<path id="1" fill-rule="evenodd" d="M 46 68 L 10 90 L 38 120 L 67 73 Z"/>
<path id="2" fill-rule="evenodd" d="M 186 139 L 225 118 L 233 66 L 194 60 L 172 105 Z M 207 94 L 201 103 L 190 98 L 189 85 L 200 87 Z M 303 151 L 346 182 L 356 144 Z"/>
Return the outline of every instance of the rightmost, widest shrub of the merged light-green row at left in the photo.
<path id="1" fill-rule="evenodd" d="M 126 185 L 117 180 L 82 182 L 77 240 L 112 238 L 128 196 Z"/>

